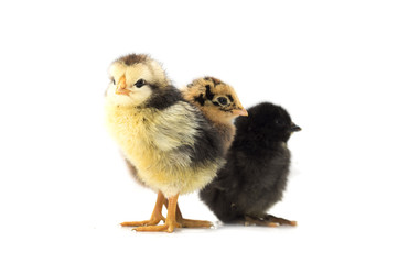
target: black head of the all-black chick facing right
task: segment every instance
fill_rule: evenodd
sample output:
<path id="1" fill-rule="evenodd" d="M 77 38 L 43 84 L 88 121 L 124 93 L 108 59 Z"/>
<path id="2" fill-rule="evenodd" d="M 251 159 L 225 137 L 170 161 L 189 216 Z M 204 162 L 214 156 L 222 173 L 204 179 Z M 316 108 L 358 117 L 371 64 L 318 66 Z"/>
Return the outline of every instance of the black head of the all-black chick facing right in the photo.
<path id="1" fill-rule="evenodd" d="M 301 128 L 295 125 L 286 109 L 270 102 L 259 103 L 248 110 L 247 119 L 238 119 L 236 127 L 240 134 L 287 142 L 293 132 Z"/>

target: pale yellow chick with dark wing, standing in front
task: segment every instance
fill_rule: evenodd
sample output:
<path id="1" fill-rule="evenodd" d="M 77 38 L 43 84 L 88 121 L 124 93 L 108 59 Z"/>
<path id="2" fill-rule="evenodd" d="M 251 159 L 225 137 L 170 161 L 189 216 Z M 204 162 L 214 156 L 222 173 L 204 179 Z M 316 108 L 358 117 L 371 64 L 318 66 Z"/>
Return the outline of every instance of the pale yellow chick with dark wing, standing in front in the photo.
<path id="1" fill-rule="evenodd" d="M 149 56 L 120 57 L 110 65 L 109 75 L 105 103 L 109 132 L 140 182 L 158 193 L 149 220 L 122 226 L 172 232 L 182 227 L 175 220 L 179 195 L 208 184 L 225 163 L 220 134 Z M 165 198 L 168 215 L 164 224 L 157 226 Z M 208 227 L 207 221 L 191 224 Z"/>

